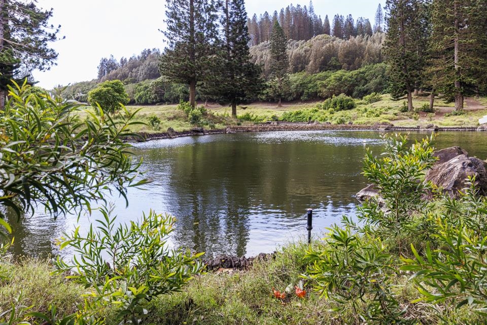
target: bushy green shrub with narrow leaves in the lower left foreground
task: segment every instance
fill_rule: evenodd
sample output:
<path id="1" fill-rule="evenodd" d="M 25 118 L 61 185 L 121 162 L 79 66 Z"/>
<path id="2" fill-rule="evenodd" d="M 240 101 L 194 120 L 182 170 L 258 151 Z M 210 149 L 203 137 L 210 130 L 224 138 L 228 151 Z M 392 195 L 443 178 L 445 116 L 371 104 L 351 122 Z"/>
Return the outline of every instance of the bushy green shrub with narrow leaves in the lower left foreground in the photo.
<path id="1" fill-rule="evenodd" d="M 77 228 L 64 234 L 58 245 L 74 250 L 73 263 L 59 257 L 56 273 L 68 276 L 90 288 L 87 295 L 96 303 L 117 306 L 117 319 L 138 323 L 147 315 L 147 304 L 154 298 L 181 290 L 202 265 L 195 262 L 201 254 L 182 254 L 167 248 L 167 236 L 175 218 L 150 211 L 140 221 L 116 227 L 111 210 L 101 209 L 97 230 L 90 226 L 85 236 Z"/>

